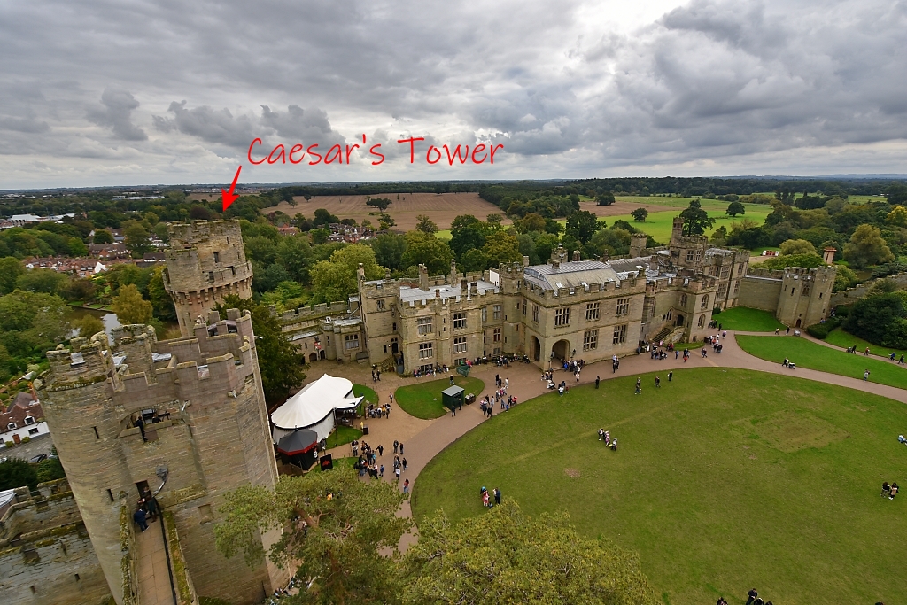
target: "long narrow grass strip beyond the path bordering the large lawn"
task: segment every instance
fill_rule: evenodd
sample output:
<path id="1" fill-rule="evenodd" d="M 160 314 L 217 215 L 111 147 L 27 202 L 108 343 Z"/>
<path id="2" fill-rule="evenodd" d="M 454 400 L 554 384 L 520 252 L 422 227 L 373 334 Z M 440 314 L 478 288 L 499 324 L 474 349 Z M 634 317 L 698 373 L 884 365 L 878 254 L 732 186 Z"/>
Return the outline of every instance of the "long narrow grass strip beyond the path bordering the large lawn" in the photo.
<path id="1" fill-rule="evenodd" d="M 808 367 L 830 374 L 863 379 L 869 370 L 869 380 L 881 385 L 907 388 L 907 369 L 891 361 L 851 355 L 828 346 L 817 345 L 797 337 L 736 337 L 737 343 L 750 355 L 780 364 L 787 357 L 797 367 Z"/>

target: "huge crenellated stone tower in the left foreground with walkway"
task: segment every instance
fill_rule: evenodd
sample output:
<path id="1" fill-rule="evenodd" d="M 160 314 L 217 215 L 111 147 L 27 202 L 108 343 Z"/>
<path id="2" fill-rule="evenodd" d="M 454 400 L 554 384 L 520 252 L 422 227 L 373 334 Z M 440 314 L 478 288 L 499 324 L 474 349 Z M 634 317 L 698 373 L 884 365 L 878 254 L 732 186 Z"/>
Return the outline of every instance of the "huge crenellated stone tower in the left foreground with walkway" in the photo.
<path id="1" fill-rule="evenodd" d="M 224 559 L 214 543 L 224 493 L 278 477 L 251 317 L 212 313 L 194 332 L 158 342 L 151 327 L 124 326 L 113 343 L 99 333 L 47 353 L 44 415 L 117 603 L 121 507 L 134 510 L 146 489 L 172 514 L 200 596 L 255 603 L 287 580 L 268 561 Z"/>

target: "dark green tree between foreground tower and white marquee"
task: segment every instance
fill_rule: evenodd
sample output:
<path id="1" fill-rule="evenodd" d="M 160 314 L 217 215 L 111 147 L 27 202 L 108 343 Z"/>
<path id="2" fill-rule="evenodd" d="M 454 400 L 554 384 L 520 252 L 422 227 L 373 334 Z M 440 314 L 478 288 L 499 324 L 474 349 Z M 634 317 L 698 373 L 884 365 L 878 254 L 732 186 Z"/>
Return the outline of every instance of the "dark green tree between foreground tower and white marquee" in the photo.
<path id="1" fill-rule="evenodd" d="M 251 298 L 239 298 L 235 294 L 227 295 L 223 303 L 214 308 L 221 319 L 227 318 L 229 308 L 251 313 L 265 401 L 268 408 L 287 401 L 290 391 L 306 379 L 302 371 L 306 357 L 297 352 L 296 345 L 281 329 L 278 317 Z"/>

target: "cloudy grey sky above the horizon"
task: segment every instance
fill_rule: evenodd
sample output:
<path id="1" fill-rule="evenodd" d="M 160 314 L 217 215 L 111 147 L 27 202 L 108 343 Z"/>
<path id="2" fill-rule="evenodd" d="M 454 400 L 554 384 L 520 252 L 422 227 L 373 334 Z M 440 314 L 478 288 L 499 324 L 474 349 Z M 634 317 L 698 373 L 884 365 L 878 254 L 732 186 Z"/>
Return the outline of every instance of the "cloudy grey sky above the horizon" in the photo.
<path id="1" fill-rule="evenodd" d="M 0 0 L 0 49 L 0 189 L 907 172 L 903 0 Z"/>

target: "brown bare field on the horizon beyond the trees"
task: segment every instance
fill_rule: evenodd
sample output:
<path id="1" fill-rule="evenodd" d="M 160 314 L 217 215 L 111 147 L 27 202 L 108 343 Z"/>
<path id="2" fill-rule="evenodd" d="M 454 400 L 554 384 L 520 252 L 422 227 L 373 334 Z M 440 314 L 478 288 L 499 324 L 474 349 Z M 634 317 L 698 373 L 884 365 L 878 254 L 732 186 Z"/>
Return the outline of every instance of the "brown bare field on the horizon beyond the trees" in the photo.
<path id="1" fill-rule="evenodd" d="M 315 210 L 324 208 L 341 219 L 355 219 L 360 223 L 363 219 L 368 219 L 377 227 L 378 209 L 366 206 L 366 197 L 387 198 L 394 202 L 387 207 L 387 214 L 394 218 L 397 229 L 405 231 L 415 229 L 418 222 L 415 217 L 419 214 L 427 214 L 431 217 L 438 229 L 450 229 L 451 221 L 461 214 L 472 214 L 479 220 L 485 220 L 489 214 L 502 214 L 500 208 L 480 198 L 478 193 L 442 193 L 441 195 L 400 193 L 400 200 L 397 200 L 396 196 L 396 193 L 376 193 L 372 196 L 316 196 L 308 201 L 297 196 L 295 208 L 288 202 L 282 201 L 277 206 L 262 209 L 261 212 L 268 214 L 268 212 L 280 210 L 291 217 L 301 212 L 310 219 L 314 216 Z M 509 219 L 503 220 L 505 225 L 510 223 Z"/>

